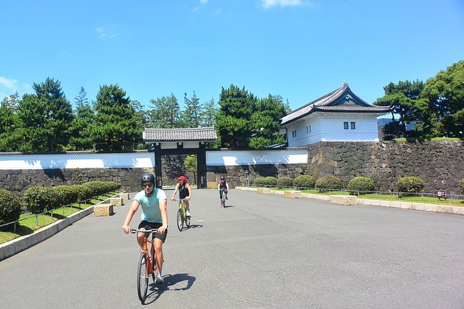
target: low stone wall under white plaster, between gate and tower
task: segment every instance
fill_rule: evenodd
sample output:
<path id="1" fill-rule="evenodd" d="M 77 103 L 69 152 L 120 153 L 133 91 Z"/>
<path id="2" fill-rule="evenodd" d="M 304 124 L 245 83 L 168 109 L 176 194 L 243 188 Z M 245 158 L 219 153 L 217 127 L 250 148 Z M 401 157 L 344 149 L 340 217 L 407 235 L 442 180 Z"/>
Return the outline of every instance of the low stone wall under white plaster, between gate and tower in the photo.
<path id="1" fill-rule="evenodd" d="M 246 173 L 250 179 L 257 177 L 291 177 L 301 175 L 302 169 L 306 170 L 307 164 L 252 164 L 240 166 L 207 166 L 206 177 L 208 184 L 217 184 L 221 176 L 227 178 L 230 188 L 243 186 L 246 182 Z M 209 186 L 208 186 L 209 187 Z"/>

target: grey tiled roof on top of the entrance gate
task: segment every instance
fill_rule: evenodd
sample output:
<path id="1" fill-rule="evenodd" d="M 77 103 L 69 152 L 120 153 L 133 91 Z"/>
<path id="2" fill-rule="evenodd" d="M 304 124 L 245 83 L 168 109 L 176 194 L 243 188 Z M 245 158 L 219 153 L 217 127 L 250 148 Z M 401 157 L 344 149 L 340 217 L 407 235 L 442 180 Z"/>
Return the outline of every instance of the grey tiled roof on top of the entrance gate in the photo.
<path id="1" fill-rule="evenodd" d="M 214 127 L 194 127 L 187 129 L 145 129 L 145 142 L 159 141 L 216 141 L 218 135 Z"/>

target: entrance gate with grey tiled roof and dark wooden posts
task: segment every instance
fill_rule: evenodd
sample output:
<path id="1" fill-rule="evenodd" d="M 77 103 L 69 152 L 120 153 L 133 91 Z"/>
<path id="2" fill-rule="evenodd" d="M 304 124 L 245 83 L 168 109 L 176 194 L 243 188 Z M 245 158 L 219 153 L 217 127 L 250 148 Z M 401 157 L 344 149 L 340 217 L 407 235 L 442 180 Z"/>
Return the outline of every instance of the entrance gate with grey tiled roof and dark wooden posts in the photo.
<path id="1" fill-rule="evenodd" d="M 162 188 L 163 155 L 194 154 L 196 155 L 197 188 L 206 188 L 206 143 L 218 139 L 214 127 L 195 127 L 187 129 L 149 129 L 143 132 L 144 142 L 152 145 L 155 152 L 156 187 Z"/>

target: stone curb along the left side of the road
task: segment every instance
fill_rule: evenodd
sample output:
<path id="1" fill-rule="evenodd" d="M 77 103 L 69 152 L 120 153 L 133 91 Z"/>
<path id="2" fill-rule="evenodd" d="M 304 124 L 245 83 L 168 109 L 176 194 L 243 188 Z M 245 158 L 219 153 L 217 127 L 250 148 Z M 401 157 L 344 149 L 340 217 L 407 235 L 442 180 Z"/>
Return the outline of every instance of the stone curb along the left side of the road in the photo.
<path id="1" fill-rule="evenodd" d="M 99 202 L 98 204 L 108 202 L 109 200 L 110 199 L 108 198 L 107 200 Z M 50 238 L 51 236 L 55 235 L 59 231 L 62 231 L 62 229 L 69 227 L 69 225 L 73 224 L 74 222 L 93 213 L 94 206 L 98 204 L 92 205 L 87 209 L 78 211 L 77 213 L 73 213 L 72 215 L 69 215 L 69 217 L 59 220 L 57 222 L 54 222 L 52 224 L 49 224 L 46 227 L 37 229 L 32 234 L 21 236 L 13 240 L 10 240 L 9 242 L 5 242 L 4 244 L 1 244 L 0 245 L 0 261 L 3 261 L 6 258 L 9 258 L 10 256 L 14 256 L 15 254 L 18 254 L 19 252 L 24 251 L 30 247 L 33 247 L 34 245 L 37 245 L 39 242 L 42 242 L 46 240 L 47 238 Z"/>

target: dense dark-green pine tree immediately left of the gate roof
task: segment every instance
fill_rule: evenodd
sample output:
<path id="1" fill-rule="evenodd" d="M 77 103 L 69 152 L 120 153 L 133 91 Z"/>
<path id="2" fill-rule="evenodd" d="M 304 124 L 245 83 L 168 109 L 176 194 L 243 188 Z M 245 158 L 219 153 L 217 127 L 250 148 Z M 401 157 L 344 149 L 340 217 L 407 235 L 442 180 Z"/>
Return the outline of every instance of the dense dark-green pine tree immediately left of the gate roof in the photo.
<path id="1" fill-rule="evenodd" d="M 94 103 L 95 121 L 90 137 L 96 150 L 133 150 L 142 124 L 126 91 L 118 85 L 103 85 Z"/>

